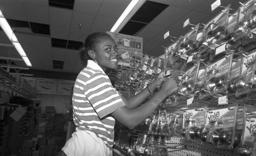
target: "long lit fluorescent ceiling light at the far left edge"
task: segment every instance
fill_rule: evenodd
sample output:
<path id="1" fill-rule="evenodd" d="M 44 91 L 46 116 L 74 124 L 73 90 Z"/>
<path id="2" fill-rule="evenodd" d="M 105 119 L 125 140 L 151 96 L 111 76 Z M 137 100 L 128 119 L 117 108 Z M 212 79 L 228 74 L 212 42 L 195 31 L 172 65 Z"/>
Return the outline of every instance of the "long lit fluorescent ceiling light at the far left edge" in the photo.
<path id="1" fill-rule="evenodd" d="M 18 42 L 17 37 L 13 33 L 10 25 L 8 24 L 6 18 L 4 17 L 2 11 L 0 10 L 0 26 L 4 30 L 5 34 L 7 37 L 10 39 L 12 44 L 14 45 L 15 49 L 18 51 L 19 55 L 22 56 L 24 62 L 26 63 L 27 66 L 32 66 L 30 63 L 25 51 L 23 50 L 22 46 Z"/>

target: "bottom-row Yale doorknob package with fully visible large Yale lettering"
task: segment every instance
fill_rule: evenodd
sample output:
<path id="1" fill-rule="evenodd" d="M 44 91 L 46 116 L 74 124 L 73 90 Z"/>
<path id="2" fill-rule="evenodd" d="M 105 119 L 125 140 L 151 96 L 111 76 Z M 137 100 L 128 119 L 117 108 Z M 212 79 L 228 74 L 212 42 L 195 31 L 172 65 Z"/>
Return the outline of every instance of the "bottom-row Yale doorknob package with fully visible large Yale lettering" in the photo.
<path id="1" fill-rule="evenodd" d="M 218 148 L 233 148 L 237 122 L 237 106 L 211 110 L 207 115 L 211 123 L 206 142 Z"/>

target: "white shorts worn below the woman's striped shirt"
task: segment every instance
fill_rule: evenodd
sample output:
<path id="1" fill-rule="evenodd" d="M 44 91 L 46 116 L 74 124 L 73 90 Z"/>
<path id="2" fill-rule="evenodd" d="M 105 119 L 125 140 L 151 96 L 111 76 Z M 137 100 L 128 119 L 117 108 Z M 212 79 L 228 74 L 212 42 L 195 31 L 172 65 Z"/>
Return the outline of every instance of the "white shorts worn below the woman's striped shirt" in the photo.
<path id="1" fill-rule="evenodd" d="M 61 150 L 67 156 L 112 156 L 112 151 L 95 133 L 78 128 Z"/>

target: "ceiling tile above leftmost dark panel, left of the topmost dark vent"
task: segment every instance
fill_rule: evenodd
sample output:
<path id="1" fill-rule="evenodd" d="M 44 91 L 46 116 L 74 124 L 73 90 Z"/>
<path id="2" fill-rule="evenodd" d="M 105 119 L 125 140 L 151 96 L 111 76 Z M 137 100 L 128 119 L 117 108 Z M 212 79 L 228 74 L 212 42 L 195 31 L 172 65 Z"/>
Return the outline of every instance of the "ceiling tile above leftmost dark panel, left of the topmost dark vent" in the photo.
<path id="1" fill-rule="evenodd" d="M 49 7 L 24 4 L 24 8 L 29 21 L 40 24 L 49 24 Z"/>

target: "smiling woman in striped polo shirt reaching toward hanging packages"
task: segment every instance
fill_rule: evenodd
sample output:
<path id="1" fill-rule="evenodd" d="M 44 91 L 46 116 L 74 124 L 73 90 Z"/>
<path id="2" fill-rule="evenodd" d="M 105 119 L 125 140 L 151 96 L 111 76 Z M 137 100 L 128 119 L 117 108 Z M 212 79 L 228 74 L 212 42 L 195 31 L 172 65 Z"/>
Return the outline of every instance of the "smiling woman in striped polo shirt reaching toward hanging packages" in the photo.
<path id="1" fill-rule="evenodd" d="M 115 119 L 133 129 L 170 94 L 177 91 L 176 81 L 159 76 L 134 97 L 124 98 L 112 86 L 107 69 L 118 69 L 117 45 L 106 33 L 92 33 L 84 42 L 80 58 L 84 69 L 78 74 L 73 90 L 73 120 L 76 131 L 62 148 L 71 155 L 112 155 Z M 158 86 L 161 90 L 141 103 Z"/>

